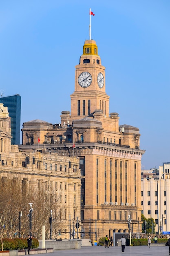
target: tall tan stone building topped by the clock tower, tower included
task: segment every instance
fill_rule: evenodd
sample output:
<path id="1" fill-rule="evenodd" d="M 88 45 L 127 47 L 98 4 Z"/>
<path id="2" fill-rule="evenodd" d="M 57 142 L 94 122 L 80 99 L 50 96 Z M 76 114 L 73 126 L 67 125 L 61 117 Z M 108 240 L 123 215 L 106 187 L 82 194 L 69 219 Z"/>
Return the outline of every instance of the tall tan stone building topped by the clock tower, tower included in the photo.
<path id="1" fill-rule="evenodd" d="M 139 128 L 119 125 L 119 114 L 109 112 L 109 98 L 96 42 L 86 40 L 75 66 L 71 112 L 61 112 L 60 124 L 25 122 L 20 145 L 20 150 L 39 146 L 51 154 L 79 157 L 85 175 L 81 220 L 86 237 L 90 233 L 93 240 L 96 234 L 99 238 L 128 231 L 128 215 L 133 230 L 141 231 L 141 157 L 145 150 L 140 149 Z"/>

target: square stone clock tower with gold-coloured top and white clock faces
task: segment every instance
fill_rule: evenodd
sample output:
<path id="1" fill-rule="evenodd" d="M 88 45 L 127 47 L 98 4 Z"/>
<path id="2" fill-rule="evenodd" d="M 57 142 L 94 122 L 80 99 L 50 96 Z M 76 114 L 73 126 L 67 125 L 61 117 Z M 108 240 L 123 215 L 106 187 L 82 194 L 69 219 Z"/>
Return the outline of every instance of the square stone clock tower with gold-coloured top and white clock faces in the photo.
<path id="1" fill-rule="evenodd" d="M 95 110 L 109 116 L 109 96 L 105 91 L 105 67 L 94 40 L 86 40 L 79 65 L 75 66 L 75 92 L 71 94 L 71 118 L 90 117 Z"/>

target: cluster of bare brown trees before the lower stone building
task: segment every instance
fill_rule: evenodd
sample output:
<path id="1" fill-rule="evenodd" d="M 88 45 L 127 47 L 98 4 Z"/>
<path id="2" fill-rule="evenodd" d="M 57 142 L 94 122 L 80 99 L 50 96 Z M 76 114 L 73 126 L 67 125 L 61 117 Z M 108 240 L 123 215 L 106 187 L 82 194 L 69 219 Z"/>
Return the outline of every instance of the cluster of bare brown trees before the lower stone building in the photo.
<path id="1" fill-rule="evenodd" d="M 45 185 L 44 185 L 45 184 Z M 19 212 L 22 211 L 21 236 L 29 234 L 29 203 L 33 203 L 32 234 L 42 238 L 42 225 L 45 225 L 46 239 L 50 237 L 49 216 L 53 211 L 53 237 L 57 230 L 62 230 L 63 207 L 59 203 L 60 195 L 50 188 L 47 180 L 38 187 L 30 186 L 28 180 L 7 175 L 0 178 L 0 237 L 14 238 L 19 234 Z M 55 232 L 56 231 L 56 232 Z M 15 235 L 17 234 L 17 235 Z M 3 244 L 2 244 L 3 250 Z"/>

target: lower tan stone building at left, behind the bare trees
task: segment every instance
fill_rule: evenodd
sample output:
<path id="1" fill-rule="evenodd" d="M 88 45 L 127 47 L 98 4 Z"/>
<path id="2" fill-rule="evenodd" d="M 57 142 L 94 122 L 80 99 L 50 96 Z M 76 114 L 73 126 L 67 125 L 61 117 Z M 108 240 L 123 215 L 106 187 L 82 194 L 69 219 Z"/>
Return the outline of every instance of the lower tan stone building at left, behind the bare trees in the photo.
<path id="1" fill-rule="evenodd" d="M 63 230 L 58 238 L 70 238 L 70 219 L 80 221 L 81 175 L 79 159 L 58 155 L 49 150 L 18 150 L 11 145 L 10 117 L 7 107 L 0 103 L 0 177 L 15 177 L 32 188 L 43 186 L 55 191 L 62 209 Z M 29 207 L 29 206 L 28 206 Z M 18 209 L 18 212 L 20 209 Z M 53 218 L 55 218 L 53 209 Z M 80 231 L 80 230 L 79 230 Z M 73 230 L 71 230 L 71 233 Z M 58 230 L 53 230 L 53 237 Z"/>

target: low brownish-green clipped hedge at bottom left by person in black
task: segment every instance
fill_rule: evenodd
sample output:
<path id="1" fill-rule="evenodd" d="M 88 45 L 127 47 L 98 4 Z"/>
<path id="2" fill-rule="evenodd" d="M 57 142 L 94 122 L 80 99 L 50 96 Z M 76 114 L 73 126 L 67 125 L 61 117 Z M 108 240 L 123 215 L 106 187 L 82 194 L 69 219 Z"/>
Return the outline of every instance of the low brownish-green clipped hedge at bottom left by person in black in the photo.
<path id="1" fill-rule="evenodd" d="M 11 250 L 20 250 L 28 248 L 27 239 L 26 238 L 3 238 L 3 250 L 4 251 L 11 251 Z M 31 248 L 38 248 L 39 242 L 36 238 L 32 239 L 32 246 Z M 0 250 L 2 250 L 2 244 L 0 240 Z"/>

